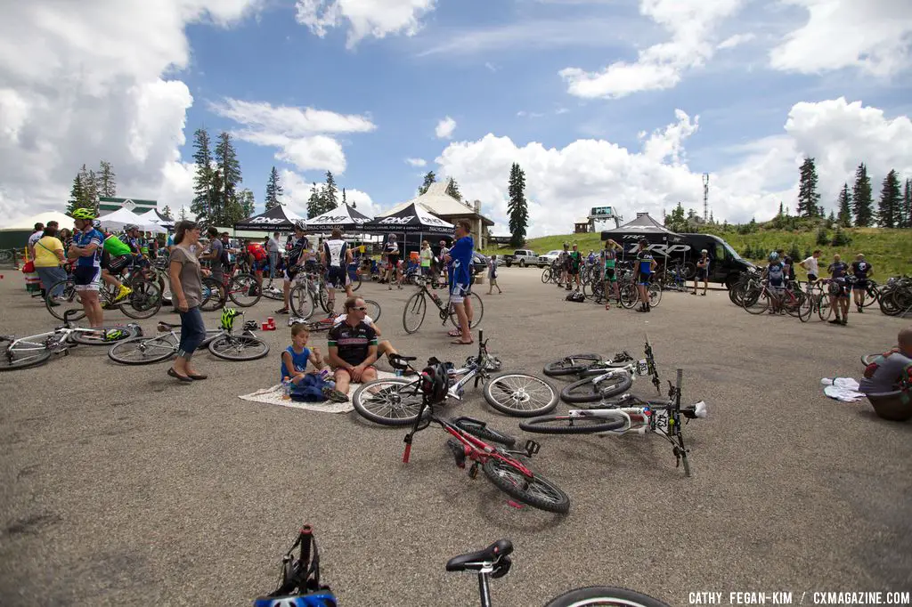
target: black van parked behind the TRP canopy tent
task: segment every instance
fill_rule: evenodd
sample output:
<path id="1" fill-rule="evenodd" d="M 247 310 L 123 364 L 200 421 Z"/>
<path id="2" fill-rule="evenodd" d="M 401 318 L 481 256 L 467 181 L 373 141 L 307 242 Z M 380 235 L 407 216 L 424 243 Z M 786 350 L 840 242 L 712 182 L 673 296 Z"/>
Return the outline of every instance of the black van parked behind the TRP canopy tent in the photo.
<path id="1" fill-rule="evenodd" d="M 621 226 L 620 230 L 623 230 Z M 756 266 L 741 258 L 731 244 L 723 241 L 713 234 L 672 234 L 650 233 L 648 231 L 631 231 L 628 233 L 602 232 L 602 240 L 611 238 L 623 245 L 624 252 L 618 259 L 629 260 L 637 256 L 637 243 L 645 238 L 649 242 L 647 247 L 656 261 L 661 264 L 682 260 L 687 262 L 687 279 L 692 280 L 696 272 L 696 263 L 700 259 L 700 252 L 706 249 L 710 253 L 710 283 L 722 283 L 731 287 L 738 280 L 738 275 Z"/>

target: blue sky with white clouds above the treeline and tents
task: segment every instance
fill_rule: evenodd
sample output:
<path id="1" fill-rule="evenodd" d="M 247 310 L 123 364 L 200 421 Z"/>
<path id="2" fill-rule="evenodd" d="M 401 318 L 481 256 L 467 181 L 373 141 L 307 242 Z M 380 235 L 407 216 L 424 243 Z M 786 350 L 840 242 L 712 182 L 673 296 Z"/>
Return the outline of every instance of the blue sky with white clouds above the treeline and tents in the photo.
<path id="1" fill-rule="evenodd" d="M 331 170 L 368 214 L 458 181 L 529 234 L 594 206 L 763 221 L 865 162 L 912 178 L 912 10 L 867 0 L 0 0 L 0 227 L 63 211 L 82 164 L 192 200 L 192 134 L 232 133 L 263 207 Z"/>

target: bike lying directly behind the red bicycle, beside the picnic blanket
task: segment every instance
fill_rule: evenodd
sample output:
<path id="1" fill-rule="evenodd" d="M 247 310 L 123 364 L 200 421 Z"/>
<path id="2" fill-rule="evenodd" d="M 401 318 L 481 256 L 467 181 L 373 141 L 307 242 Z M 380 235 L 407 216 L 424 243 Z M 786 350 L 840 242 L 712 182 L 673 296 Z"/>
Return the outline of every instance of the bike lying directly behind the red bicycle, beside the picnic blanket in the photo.
<path id="1" fill-rule="evenodd" d="M 465 386 L 472 380 L 488 405 L 508 416 L 533 417 L 548 413 L 557 406 L 557 393 L 544 379 L 525 373 L 500 372 L 501 361 L 488 353 L 483 332 L 478 335 L 478 355 L 469 356 L 465 366 L 456 369 L 448 363 L 450 388 L 447 397 L 461 401 Z M 389 355 L 389 365 L 399 371 L 418 369 L 409 365 L 415 356 Z M 435 359 L 436 360 L 436 359 Z M 389 377 L 375 379 L 359 387 L 352 396 L 358 413 L 383 426 L 408 426 L 419 416 L 423 393 L 419 379 Z"/>

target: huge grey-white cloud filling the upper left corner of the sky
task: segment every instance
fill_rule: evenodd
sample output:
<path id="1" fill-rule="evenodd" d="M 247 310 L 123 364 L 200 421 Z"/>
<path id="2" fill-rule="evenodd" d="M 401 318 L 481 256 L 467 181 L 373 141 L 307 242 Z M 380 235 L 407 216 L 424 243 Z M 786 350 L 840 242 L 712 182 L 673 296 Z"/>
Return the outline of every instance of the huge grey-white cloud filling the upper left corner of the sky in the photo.
<path id="1" fill-rule="evenodd" d="M 177 149 L 192 96 L 162 75 L 190 63 L 187 24 L 230 25 L 259 4 L 5 3 L 0 213 L 62 211 L 78 168 L 100 159 L 114 164 L 121 195 L 179 207 L 189 190 Z"/>

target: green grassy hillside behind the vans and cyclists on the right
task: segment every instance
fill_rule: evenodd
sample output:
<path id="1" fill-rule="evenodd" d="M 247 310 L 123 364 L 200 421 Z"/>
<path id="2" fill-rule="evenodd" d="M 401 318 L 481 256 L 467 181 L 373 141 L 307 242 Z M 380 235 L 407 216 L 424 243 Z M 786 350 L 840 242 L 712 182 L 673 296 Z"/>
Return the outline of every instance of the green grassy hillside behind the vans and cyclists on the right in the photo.
<path id="1" fill-rule="evenodd" d="M 789 252 L 793 248 L 800 255 L 820 249 L 823 252 L 822 259 L 832 260 L 834 253 L 843 256 L 843 260 L 851 262 L 855 259 L 855 253 L 865 253 L 865 259 L 874 265 L 875 276 L 883 280 L 886 276 L 896 276 L 897 274 L 912 273 L 912 230 L 886 230 L 883 228 L 850 228 L 845 230 L 845 235 L 850 239 L 849 244 L 844 246 L 818 245 L 817 231 L 811 228 L 796 231 L 777 230 L 772 227 L 758 225 L 757 231 L 747 234 L 740 234 L 738 231 L 729 227 L 723 229 L 719 226 L 718 230 L 706 230 L 708 233 L 719 236 L 724 241 L 731 244 L 731 247 L 741 253 L 742 257 L 751 259 L 753 262 L 761 262 L 765 255 L 758 252 L 770 252 L 777 249 L 784 249 Z M 827 236 L 832 242 L 834 231 L 828 230 Z M 544 236 L 534 238 L 526 242 L 526 248 L 532 249 L 538 254 L 542 254 L 553 249 L 560 249 L 565 242 L 576 242 L 579 250 L 587 254 L 590 249 L 598 251 L 602 248 L 603 243 L 598 233 L 594 234 L 563 234 L 558 236 Z M 509 253 L 513 247 L 491 247 L 483 251 L 486 254 Z M 744 253 L 750 250 L 751 255 Z"/>

